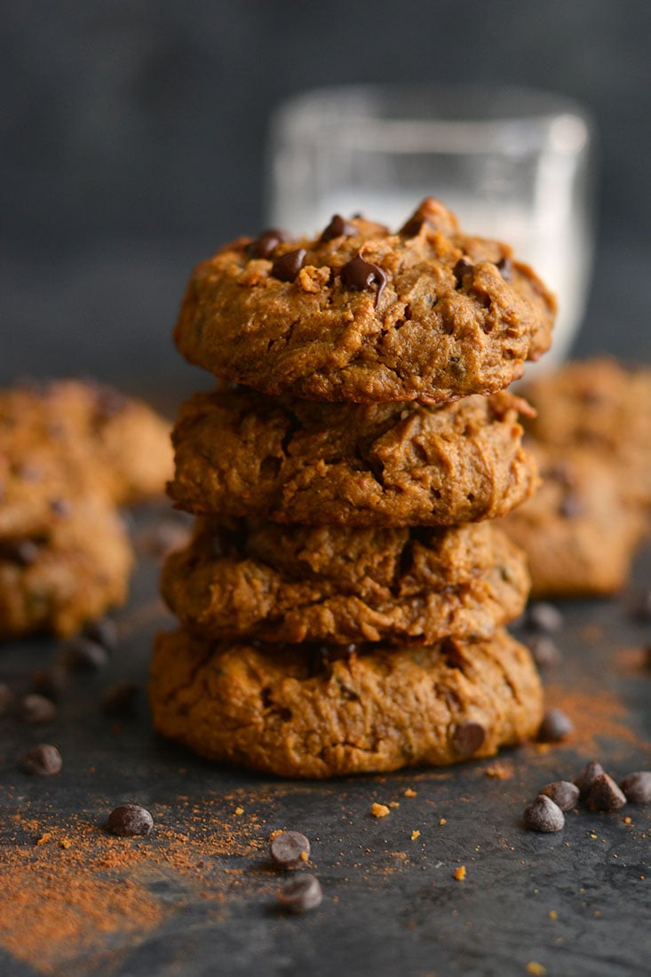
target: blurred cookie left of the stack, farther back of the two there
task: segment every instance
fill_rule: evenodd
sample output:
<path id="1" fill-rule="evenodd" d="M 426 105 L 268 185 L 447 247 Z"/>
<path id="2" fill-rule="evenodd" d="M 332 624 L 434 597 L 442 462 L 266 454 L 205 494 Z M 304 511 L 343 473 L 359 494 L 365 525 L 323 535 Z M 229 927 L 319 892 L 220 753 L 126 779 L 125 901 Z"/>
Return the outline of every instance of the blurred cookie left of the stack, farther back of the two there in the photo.
<path id="1" fill-rule="evenodd" d="M 86 493 L 127 505 L 161 494 L 169 424 L 151 407 L 77 380 L 0 392 L 0 537 L 47 531 Z"/>

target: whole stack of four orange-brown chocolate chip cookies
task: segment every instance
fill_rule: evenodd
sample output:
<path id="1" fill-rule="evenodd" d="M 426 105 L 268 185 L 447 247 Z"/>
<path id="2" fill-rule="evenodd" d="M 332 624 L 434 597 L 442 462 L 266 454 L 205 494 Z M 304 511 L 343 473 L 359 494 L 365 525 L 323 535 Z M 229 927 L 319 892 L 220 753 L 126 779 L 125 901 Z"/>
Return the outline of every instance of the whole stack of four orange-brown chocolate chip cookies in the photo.
<path id="1" fill-rule="evenodd" d="M 537 486 L 504 388 L 553 315 L 508 246 L 431 199 L 397 234 L 336 216 L 195 270 L 175 338 L 221 385 L 174 430 L 169 492 L 197 518 L 162 574 L 181 626 L 152 659 L 161 733 L 290 777 L 536 733 L 538 673 L 504 629 L 529 576 L 489 521 Z"/>

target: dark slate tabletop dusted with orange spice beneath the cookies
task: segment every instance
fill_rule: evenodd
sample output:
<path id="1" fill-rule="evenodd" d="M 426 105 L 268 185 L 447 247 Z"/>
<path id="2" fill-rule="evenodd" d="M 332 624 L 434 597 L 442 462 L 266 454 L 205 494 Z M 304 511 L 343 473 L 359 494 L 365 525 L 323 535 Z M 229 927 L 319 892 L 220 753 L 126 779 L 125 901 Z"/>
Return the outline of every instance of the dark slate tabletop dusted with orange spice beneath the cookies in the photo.
<path id="1" fill-rule="evenodd" d="M 155 856 L 150 871 L 134 865 L 119 879 L 144 885 L 162 919 L 127 935 L 117 927 L 98 937 L 92 955 L 80 945 L 67 951 L 65 966 L 50 970 L 52 946 L 27 941 L 21 961 L 0 949 L 0 972 L 515 977 L 536 961 L 547 974 L 573 977 L 648 973 L 651 806 L 629 804 L 614 814 L 582 807 L 557 834 L 527 832 L 521 818 L 540 787 L 571 780 L 590 758 L 618 780 L 649 769 L 651 671 L 643 648 L 651 627 L 635 622 L 629 607 L 650 578 L 647 546 L 626 594 L 563 606 L 563 660 L 545 673 L 545 684 L 547 704 L 575 722 L 568 743 L 529 745 L 499 761 L 446 770 L 291 783 L 213 767 L 163 742 L 152 734 L 144 702 L 133 718 L 101 711 L 111 682 L 146 680 L 152 632 L 166 620 L 154 599 L 155 567 L 144 560 L 132 601 L 118 615 L 122 637 L 109 667 L 74 676 L 58 720 L 44 730 L 0 720 L 2 847 L 9 855 L 19 846 L 36 851 L 42 830 L 54 825 L 77 848 L 83 829 L 95 828 L 101 852 L 109 846 L 100 827 L 109 811 L 143 804 L 152 811 L 152 835 L 110 841 Z M 28 686 L 32 669 L 53 654 L 48 641 L 6 646 L 0 681 Z M 64 771 L 53 778 L 18 771 L 22 750 L 44 740 L 61 748 Z M 496 768 L 505 779 L 490 776 Z M 415 796 L 404 796 L 408 787 Z M 374 801 L 394 800 L 400 806 L 388 817 L 370 815 Z M 310 915 L 276 908 L 282 873 L 269 864 L 267 838 L 283 827 L 312 843 L 310 871 L 325 898 Z M 413 830 L 420 836 L 411 840 Z M 188 871 L 166 861 L 180 832 L 186 860 L 201 874 L 198 888 Z M 460 865 L 463 881 L 453 877 Z M 37 899 L 32 912 L 38 917 Z"/>

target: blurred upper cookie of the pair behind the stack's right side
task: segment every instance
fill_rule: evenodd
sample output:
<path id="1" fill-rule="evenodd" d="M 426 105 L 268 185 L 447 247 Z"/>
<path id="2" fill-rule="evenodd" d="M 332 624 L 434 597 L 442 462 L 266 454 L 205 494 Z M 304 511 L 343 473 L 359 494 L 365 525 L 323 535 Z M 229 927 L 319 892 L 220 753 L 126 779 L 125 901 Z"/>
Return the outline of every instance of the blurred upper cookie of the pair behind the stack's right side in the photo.
<path id="1" fill-rule="evenodd" d="M 527 422 L 538 441 L 599 452 L 631 501 L 651 509 L 651 367 L 569 362 L 530 382 L 526 394 L 538 408 Z"/>

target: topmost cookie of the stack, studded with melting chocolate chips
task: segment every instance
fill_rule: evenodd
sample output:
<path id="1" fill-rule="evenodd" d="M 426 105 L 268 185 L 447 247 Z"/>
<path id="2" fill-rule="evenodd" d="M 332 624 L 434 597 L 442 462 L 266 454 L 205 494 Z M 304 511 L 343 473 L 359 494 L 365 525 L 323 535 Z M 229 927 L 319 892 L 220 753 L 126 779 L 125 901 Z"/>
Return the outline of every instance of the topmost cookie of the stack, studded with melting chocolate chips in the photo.
<path id="1" fill-rule="evenodd" d="M 444 404 L 521 376 L 554 313 L 508 245 L 427 199 L 397 234 L 335 216 L 316 239 L 227 244 L 195 269 L 174 335 L 187 360 L 267 394 Z"/>

